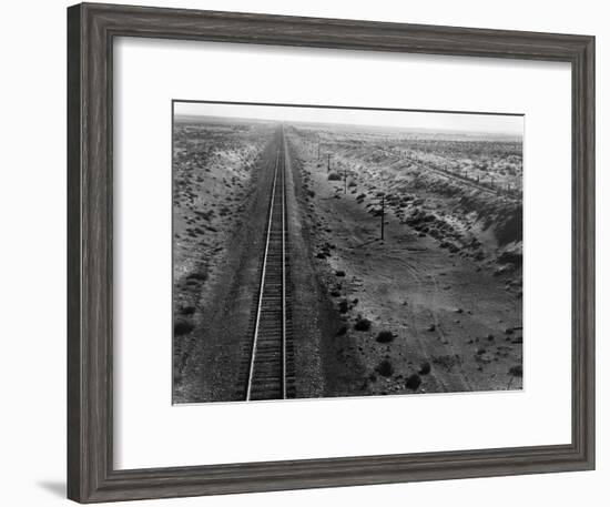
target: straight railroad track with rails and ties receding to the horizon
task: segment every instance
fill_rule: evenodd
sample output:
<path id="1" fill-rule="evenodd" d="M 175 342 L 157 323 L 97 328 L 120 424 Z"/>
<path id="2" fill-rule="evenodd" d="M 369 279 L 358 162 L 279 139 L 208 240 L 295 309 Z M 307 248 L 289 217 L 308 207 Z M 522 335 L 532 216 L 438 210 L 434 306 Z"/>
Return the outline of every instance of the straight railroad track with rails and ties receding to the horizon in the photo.
<path id="1" fill-rule="evenodd" d="M 283 131 L 278 138 L 260 284 L 240 381 L 241 386 L 245 384 L 245 389 L 241 387 L 241 397 L 246 400 L 294 397 Z"/>

